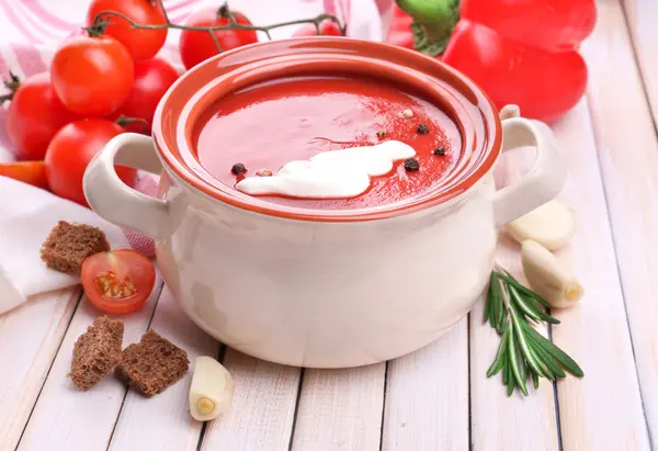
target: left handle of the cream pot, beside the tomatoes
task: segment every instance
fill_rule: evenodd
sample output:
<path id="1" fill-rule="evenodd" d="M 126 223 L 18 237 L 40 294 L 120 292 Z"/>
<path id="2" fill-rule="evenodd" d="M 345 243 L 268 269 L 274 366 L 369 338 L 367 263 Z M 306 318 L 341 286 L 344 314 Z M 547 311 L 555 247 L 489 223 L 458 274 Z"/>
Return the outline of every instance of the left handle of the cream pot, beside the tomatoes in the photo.
<path id="1" fill-rule="evenodd" d="M 82 188 L 91 208 L 110 223 L 154 239 L 169 236 L 169 202 L 127 187 L 116 174 L 114 165 L 160 174 L 162 165 L 151 138 L 136 133 L 123 133 L 112 138 L 90 161 Z"/>

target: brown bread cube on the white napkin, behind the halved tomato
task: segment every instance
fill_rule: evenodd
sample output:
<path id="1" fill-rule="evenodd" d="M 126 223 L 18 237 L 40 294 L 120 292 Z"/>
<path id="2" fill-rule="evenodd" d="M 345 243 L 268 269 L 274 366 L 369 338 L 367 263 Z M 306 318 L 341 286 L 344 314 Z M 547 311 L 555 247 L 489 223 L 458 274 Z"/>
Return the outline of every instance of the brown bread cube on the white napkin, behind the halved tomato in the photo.
<path id="1" fill-rule="evenodd" d="M 41 258 L 50 269 L 80 275 L 80 267 L 87 257 L 109 250 L 110 244 L 101 229 L 60 221 L 42 246 Z"/>

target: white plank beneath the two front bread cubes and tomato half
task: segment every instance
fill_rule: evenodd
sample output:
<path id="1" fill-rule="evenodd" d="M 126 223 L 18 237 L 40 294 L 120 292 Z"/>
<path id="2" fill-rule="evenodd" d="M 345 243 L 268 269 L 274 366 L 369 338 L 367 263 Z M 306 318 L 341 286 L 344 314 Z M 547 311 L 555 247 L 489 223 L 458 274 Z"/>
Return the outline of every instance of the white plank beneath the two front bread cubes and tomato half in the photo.
<path id="1" fill-rule="evenodd" d="M 152 316 L 162 287 L 158 275 L 156 290 L 138 313 L 123 317 L 124 347 L 139 341 Z M 73 343 L 87 327 L 102 315 L 86 297 L 78 306 L 55 358 L 48 379 L 34 407 L 18 450 L 104 450 L 121 410 L 126 386 L 107 376 L 89 392 L 77 390 L 67 377 Z"/>

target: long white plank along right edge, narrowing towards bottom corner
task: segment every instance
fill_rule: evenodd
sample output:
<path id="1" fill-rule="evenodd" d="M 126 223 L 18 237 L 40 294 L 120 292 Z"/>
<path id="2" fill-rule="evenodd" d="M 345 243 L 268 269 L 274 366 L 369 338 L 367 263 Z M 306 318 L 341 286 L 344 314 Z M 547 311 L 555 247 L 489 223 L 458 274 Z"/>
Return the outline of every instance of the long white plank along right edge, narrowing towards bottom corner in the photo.
<path id="1" fill-rule="evenodd" d="M 637 14 L 651 14 L 650 3 L 637 3 Z M 621 3 L 598 7 L 597 29 L 583 47 L 588 100 L 645 415 L 658 446 L 658 142 Z M 654 57 L 656 44 L 645 48 Z"/>

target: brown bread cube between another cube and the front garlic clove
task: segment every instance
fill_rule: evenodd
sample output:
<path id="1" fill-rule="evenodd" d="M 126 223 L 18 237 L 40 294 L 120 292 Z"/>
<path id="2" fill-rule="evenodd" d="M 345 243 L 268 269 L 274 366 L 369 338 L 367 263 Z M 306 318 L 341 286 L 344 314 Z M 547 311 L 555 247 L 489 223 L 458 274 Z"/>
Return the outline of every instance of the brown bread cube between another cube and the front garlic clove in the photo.
<path id="1" fill-rule="evenodd" d="M 180 380 L 189 367 L 188 353 L 151 329 L 124 349 L 114 373 L 151 397 Z"/>

